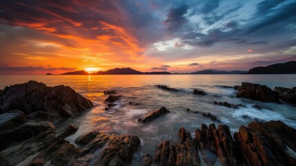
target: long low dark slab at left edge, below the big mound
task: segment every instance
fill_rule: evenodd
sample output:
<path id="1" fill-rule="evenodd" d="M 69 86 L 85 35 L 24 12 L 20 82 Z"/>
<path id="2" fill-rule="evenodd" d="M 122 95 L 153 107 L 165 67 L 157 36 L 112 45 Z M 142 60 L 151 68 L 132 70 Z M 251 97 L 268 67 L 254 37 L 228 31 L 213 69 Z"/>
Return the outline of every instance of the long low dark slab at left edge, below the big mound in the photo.
<path id="1" fill-rule="evenodd" d="M 0 132 L 0 151 L 14 142 L 27 140 L 46 130 L 55 131 L 55 126 L 51 122 L 27 122 L 8 131 L 2 131 Z"/>

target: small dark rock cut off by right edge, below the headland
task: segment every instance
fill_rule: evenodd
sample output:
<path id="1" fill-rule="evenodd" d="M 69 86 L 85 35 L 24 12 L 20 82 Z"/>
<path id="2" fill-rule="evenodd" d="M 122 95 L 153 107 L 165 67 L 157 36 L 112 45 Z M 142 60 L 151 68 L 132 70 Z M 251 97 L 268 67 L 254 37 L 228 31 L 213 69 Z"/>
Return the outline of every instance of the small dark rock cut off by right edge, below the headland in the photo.
<path id="1" fill-rule="evenodd" d="M 279 93 L 280 99 L 285 102 L 296 104 L 296 87 L 293 87 L 293 89 L 275 87 L 275 91 Z"/>

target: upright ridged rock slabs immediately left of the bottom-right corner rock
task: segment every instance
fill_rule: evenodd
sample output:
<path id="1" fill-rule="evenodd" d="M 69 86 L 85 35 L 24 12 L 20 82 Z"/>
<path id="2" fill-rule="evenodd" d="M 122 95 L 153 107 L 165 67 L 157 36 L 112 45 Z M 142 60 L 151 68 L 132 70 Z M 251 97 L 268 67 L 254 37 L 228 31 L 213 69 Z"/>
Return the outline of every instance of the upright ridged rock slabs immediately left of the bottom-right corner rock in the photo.
<path id="1" fill-rule="evenodd" d="M 209 127 L 201 124 L 201 130 L 197 129 L 195 136 L 208 165 L 214 165 L 217 156 L 223 165 L 242 165 L 239 149 L 231 137 L 228 126 L 219 125 L 217 130 L 215 124 L 210 124 Z"/>

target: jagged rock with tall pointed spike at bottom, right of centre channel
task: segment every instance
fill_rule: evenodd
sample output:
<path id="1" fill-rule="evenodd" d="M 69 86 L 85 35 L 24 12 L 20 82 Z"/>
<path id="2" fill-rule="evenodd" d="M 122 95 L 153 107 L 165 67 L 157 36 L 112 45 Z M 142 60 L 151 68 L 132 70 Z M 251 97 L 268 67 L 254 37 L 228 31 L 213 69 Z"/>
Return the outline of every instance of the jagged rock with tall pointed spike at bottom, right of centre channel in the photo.
<path id="1" fill-rule="evenodd" d="M 170 145 L 170 141 L 161 142 L 155 153 L 156 165 L 200 165 L 195 141 L 183 127 L 179 130 L 180 144 Z"/>

